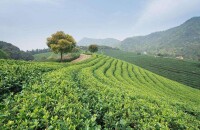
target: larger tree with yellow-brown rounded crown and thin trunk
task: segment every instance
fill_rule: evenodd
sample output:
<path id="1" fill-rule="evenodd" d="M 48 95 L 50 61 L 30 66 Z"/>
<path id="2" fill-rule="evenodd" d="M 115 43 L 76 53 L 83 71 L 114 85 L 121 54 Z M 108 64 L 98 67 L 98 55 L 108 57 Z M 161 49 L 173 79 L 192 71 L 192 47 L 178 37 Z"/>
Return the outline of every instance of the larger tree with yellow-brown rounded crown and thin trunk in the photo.
<path id="1" fill-rule="evenodd" d="M 60 59 L 63 60 L 63 54 L 69 53 L 76 46 L 74 38 L 63 31 L 58 31 L 47 38 L 47 46 L 55 53 L 60 53 Z"/>

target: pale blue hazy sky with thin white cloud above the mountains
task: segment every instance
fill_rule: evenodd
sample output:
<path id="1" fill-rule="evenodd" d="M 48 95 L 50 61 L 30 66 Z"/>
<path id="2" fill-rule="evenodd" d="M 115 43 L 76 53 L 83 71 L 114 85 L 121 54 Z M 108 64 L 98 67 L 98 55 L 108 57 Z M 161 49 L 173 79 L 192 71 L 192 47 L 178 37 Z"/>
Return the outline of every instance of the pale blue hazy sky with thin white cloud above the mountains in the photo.
<path id="1" fill-rule="evenodd" d="M 0 0 L 0 41 L 47 48 L 56 31 L 83 37 L 145 35 L 200 16 L 200 0 Z"/>

